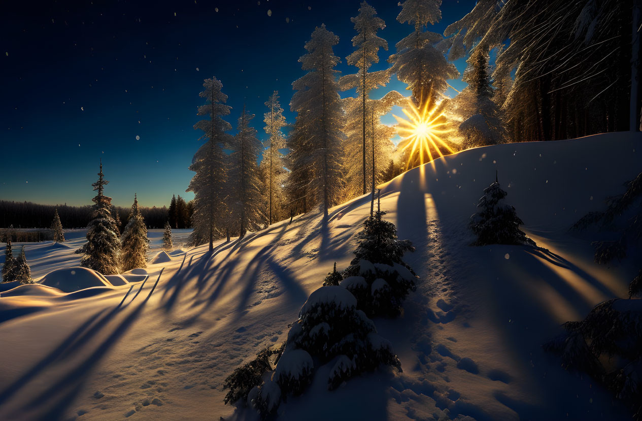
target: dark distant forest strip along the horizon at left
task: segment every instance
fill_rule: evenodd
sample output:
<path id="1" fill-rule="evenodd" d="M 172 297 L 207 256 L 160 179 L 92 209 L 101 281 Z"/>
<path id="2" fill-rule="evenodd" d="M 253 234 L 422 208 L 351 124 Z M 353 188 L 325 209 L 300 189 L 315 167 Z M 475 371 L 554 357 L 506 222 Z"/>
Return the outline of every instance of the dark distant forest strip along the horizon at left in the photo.
<path id="1" fill-rule="evenodd" d="M 191 206 L 188 206 L 184 199 L 180 198 L 180 200 L 185 204 L 185 213 L 182 213 L 183 216 L 180 219 L 181 222 L 178 223 L 178 228 L 189 228 L 191 226 L 189 224 L 191 219 L 189 208 Z M 11 224 L 14 228 L 49 228 L 55 217 L 56 208 L 64 228 L 85 228 L 91 220 L 91 205 L 67 206 L 67 204 L 0 201 L 0 228 L 8 228 Z M 148 228 L 164 228 L 165 222 L 169 219 L 169 210 L 166 206 L 162 206 L 162 208 L 140 206 L 139 209 Z M 112 212 L 118 213 L 119 219 L 126 223 L 130 209 L 112 206 Z M 176 224 L 172 224 L 171 227 L 176 228 Z"/>

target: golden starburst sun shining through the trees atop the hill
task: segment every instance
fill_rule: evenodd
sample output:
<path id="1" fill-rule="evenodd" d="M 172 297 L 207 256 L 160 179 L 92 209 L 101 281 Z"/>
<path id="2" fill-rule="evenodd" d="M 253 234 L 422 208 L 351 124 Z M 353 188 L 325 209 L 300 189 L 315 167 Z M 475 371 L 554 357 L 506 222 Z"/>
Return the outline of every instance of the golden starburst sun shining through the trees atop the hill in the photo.
<path id="1" fill-rule="evenodd" d="M 431 99 L 431 95 L 428 95 L 424 105 L 417 107 L 413 100 L 408 98 L 408 106 L 403 109 L 408 120 L 395 116 L 398 123 L 397 134 L 401 136 L 401 152 L 410 150 L 406 170 L 433 161 L 437 157 L 455 153 L 444 139 L 440 138 L 440 135 L 450 131 L 442 112 L 442 103 L 436 103 Z"/>

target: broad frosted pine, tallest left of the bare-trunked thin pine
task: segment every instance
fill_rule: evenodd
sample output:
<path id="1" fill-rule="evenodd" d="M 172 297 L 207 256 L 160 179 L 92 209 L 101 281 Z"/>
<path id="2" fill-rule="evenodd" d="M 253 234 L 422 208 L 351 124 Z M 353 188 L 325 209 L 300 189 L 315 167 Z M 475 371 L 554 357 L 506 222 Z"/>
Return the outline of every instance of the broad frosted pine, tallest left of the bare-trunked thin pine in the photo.
<path id="1" fill-rule="evenodd" d="M 306 208 L 320 205 L 325 215 L 342 192 L 343 115 L 334 69 L 339 58 L 333 52 L 338 42 L 325 24 L 313 31 L 305 46 L 308 53 L 299 58 L 308 73 L 292 84 L 296 92 L 290 102 L 297 112 L 288 142 L 290 195 L 295 201 L 305 200 Z"/>

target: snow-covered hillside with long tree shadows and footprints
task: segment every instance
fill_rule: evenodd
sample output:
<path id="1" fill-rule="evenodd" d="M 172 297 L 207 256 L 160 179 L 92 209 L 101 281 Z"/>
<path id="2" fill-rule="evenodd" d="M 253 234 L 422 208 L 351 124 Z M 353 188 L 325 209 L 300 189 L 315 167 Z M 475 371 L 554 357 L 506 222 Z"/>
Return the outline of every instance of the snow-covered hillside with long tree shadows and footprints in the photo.
<path id="1" fill-rule="evenodd" d="M 550 253 L 469 246 L 467 222 L 496 170 L 525 231 Z M 405 260 L 421 277 L 400 318 L 375 319 L 404 371 L 327 391 L 330 368 L 322 367 L 307 393 L 281 405 L 279 419 L 630 417 L 541 345 L 560 323 L 626 295 L 639 262 L 594 264 L 590 242 L 568 228 L 639 172 L 642 136 L 620 133 L 467 150 L 382 186 L 386 219 L 417 247 Z M 285 339 L 335 261 L 347 267 L 369 210 L 361 197 L 333 208 L 327 223 L 302 215 L 218 242 L 213 253 L 182 247 L 169 261 L 157 256 L 162 230 L 150 231 L 149 258 L 158 263 L 107 277 L 112 285 L 2 292 L 0 418 L 254 419 L 223 405 L 223 380 Z M 64 244 L 26 247 L 35 278 L 79 264 L 73 251 L 84 233 L 66 235 Z"/>

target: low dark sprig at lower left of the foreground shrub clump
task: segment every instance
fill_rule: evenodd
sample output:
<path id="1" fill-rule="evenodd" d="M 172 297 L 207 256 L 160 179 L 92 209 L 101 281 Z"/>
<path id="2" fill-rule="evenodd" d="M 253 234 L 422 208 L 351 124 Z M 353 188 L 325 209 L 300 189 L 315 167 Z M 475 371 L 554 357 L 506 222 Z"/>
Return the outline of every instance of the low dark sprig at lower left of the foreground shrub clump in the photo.
<path id="1" fill-rule="evenodd" d="M 223 382 L 223 390 L 229 389 L 224 402 L 248 402 L 248 395 L 253 388 L 261 386 L 263 375 L 272 370 L 272 357 L 281 355 L 281 348 L 263 348 L 256 358 L 236 368 Z"/>

